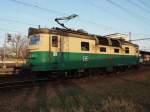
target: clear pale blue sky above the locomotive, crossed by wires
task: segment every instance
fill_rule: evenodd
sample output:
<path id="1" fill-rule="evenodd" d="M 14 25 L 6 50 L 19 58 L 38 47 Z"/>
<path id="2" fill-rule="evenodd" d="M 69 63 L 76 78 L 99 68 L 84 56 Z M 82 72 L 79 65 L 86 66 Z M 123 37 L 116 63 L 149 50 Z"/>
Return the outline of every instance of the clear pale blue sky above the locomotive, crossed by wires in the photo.
<path id="1" fill-rule="evenodd" d="M 72 29 L 108 35 L 128 34 L 131 39 L 150 37 L 149 0 L 1 0 L 0 46 L 6 33 L 27 35 L 29 27 L 60 27 L 57 17 L 79 15 L 65 22 Z M 135 41 L 150 51 L 150 40 Z"/>

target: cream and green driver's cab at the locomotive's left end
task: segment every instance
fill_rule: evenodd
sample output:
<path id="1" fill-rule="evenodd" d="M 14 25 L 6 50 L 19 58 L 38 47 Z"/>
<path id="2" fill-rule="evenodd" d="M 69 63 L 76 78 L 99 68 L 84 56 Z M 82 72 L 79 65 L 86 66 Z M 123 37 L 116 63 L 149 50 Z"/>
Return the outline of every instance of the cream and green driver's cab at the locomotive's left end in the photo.
<path id="1" fill-rule="evenodd" d="M 51 34 L 47 29 L 29 29 L 29 59 L 28 64 L 33 71 L 48 71 L 57 69 L 60 58 L 60 36 Z M 52 63 L 52 64 L 50 64 Z"/>

